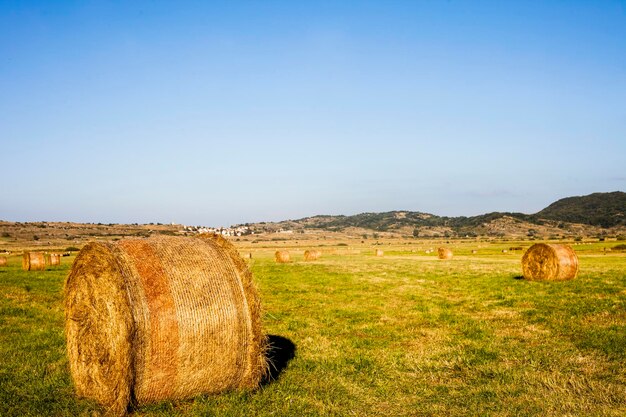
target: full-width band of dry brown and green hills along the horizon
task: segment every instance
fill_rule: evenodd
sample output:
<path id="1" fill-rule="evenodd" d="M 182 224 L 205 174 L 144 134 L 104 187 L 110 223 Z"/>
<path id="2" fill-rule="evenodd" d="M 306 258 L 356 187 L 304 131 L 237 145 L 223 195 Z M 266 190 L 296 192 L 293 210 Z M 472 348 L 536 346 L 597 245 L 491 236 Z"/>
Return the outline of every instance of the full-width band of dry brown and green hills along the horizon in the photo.
<path id="1" fill-rule="evenodd" d="M 237 225 L 235 225 L 237 226 Z M 282 222 L 247 223 L 250 236 L 237 239 L 325 239 L 326 235 L 359 239 L 379 237 L 506 237 L 514 239 L 626 236 L 626 193 L 594 193 L 563 198 L 535 214 L 486 213 L 445 217 L 419 211 L 312 216 Z M 94 240 L 113 241 L 155 234 L 193 235 L 184 225 L 10 222 L 0 220 L 0 252 L 16 248 L 70 250 Z M 247 234 L 246 234 L 247 235 Z"/>

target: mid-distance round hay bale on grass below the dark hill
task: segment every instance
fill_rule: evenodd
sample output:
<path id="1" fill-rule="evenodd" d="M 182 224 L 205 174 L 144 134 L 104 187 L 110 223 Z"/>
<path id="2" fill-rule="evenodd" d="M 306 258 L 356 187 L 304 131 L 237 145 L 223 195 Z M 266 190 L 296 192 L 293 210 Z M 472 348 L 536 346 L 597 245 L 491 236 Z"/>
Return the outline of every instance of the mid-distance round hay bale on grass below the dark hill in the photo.
<path id="1" fill-rule="evenodd" d="M 530 280 L 563 281 L 576 277 L 578 256 L 567 245 L 536 243 L 522 256 L 522 274 Z"/>

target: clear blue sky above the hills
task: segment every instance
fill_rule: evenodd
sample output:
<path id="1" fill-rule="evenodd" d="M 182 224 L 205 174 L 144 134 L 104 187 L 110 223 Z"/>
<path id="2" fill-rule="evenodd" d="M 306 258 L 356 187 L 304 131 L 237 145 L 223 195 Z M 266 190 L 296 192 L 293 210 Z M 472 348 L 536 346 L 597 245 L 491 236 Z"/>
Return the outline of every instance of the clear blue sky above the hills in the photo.
<path id="1" fill-rule="evenodd" d="M 534 213 L 626 189 L 626 1 L 0 1 L 0 219 Z"/>

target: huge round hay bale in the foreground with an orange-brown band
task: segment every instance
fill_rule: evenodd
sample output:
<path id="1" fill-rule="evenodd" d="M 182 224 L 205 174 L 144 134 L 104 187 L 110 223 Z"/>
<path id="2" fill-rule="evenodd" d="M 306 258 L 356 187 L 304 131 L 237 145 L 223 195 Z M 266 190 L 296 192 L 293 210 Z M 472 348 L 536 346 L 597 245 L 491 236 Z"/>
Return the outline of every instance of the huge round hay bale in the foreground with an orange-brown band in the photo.
<path id="1" fill-rule="evenodd" d="M 77 394 L 110 415 L 255 388 L 267 369 L 252 275 L 223 239 L 86 245 L 65 282 L 65 332 Z"/>

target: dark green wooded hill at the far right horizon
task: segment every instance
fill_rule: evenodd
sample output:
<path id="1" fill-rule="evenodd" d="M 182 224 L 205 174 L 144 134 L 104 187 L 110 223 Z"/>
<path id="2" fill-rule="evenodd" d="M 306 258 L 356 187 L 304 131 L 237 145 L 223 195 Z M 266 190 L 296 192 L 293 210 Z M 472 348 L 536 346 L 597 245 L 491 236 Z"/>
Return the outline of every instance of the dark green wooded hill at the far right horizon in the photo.
<path id="1" fill-rule="evenodd" d="M 626 226 L 626 193 L 593 193 L 567 197 L 535 214 L 536 218 L 600 227 Z"/>

